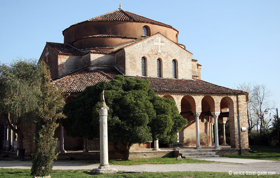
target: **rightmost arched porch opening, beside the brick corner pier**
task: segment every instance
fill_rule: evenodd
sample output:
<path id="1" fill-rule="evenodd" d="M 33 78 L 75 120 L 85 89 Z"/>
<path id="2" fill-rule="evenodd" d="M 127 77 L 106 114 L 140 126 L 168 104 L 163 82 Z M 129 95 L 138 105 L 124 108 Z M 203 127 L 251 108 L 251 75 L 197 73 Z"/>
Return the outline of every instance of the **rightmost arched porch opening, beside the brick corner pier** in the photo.
<path id="1" fill-rule="evenodd" d="M 221 145 L 231 145 L 237 148 L 234 128 L 234 105 L 230 97 L 222 98 L 220 102 L 220 115 L 218 117 L 218 131 Z"/>

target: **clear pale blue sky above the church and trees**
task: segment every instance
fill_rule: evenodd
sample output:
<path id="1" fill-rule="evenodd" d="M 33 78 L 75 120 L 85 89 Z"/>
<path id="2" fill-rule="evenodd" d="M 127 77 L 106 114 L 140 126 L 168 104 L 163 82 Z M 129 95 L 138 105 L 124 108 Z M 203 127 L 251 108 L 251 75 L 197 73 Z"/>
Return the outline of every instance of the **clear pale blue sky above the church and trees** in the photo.
<path id="1" fill-rule="evenodd" d="M 118 0 L 0 0 L 0 61 L 39 59 L 62 30 L 119 7 Z M 122 0 L 126 11 L 169 24 L 202 65 L 201 79 L 236 88 L 265 84 L 280 109 L 279 0 Z"/>

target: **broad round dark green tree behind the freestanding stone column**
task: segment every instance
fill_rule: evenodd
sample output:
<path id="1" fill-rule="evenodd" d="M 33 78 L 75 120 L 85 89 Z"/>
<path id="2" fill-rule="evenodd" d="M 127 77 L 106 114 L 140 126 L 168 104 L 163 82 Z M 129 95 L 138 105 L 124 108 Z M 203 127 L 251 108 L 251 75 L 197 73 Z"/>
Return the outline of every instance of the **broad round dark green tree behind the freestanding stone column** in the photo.
<path id="1" fill-rule="evenodd" d="M 110 82 L 99 82 L 87 87 L 82 94 L 69 100 L 62 119 L 66 134 L 87 139 L 99 138 L 100 94 L 105 90 L 108 110 L 108 139 L 116 151 L 127 160 L 134 143 L 160 139 L 163 143 L 177 141 L 187 120 L 179 115 L 176 103 L 161 98 L 149 88 L 148 80 L 116 76 Z"/>

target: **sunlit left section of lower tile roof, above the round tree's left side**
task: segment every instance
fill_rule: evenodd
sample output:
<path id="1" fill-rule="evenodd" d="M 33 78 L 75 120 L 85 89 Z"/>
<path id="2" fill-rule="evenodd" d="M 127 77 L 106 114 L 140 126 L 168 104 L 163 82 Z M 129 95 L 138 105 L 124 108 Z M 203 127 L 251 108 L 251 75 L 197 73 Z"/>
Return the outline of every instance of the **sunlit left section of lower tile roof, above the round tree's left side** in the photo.
<path id="1" fill-rule="evenodd" d="M 64 92 L 82 92 L 86 87 L 100 81 L 110 81 L 120 75 L 116 69 L 81 69 L 53 81 L 53 85 Z"/>

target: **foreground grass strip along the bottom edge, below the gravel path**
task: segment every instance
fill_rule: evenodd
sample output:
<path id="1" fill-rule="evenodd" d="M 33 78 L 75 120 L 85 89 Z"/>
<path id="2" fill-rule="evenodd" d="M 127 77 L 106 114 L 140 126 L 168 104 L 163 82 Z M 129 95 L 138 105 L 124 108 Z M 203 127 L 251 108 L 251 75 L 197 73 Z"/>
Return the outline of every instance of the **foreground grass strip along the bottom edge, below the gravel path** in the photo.
<path id="1" fill-rule="evenodd" d="M 29 169 L 3 169 L 0 168 L 0 177 L 1 178 L 30 178 L 30 170 Z M 90 173 L 90 170 L 53 170 L 53 173 L 51 173 L 51 177 L 75 177 L 75 178 L 81 178 L 81 177 L 141 177 L 141 178 L 149 178 L 149 177 L 279 177 L 280 175 L 265 175 L 265 176 L 237 176 L 237 175 L 229 175 L 227 172 L 191 172 L 191 171 L 185 171 L 185 172 L 143 172 L 142 174 L 122 174 L 117 173 L 113 175 L 92 175 Z"/>

